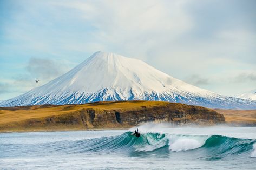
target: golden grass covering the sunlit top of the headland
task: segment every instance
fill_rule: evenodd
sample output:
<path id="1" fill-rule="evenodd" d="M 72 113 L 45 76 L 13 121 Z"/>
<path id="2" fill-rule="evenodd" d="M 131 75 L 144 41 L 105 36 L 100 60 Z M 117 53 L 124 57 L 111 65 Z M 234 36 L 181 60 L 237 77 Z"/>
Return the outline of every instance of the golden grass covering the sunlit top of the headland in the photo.
<path id="1" fill-rule="evenodd" d="M 95 110 L 129 110 L 130 108 L 139 108 L 141 106 L 161 106 L 167 103 L 168 102 L 165 101 L 104 101 L 81 105 L 0 107 L 0 124 L 32 118 L 48 117 L 52 115 L 61 115 L 70 113 L 72 111 L 81 110 L 83 108 L 93 108 Z M 182 107 L 182 104 L 180 104 L 180 107 Z"/>

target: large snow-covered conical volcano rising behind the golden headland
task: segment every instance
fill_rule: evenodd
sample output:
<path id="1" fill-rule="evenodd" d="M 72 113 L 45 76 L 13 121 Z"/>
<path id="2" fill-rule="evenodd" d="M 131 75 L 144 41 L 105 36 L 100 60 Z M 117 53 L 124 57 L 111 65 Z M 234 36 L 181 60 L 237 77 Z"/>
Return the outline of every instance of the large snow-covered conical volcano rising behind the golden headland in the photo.
<path id="1" fill-rule="evenodd" d="M 141 60 L 96 52 L 49 83 L 0 106 L 157 100 L 212 108 L 256 108 L 256 102 L 221 96 L 173 78 Z"/>

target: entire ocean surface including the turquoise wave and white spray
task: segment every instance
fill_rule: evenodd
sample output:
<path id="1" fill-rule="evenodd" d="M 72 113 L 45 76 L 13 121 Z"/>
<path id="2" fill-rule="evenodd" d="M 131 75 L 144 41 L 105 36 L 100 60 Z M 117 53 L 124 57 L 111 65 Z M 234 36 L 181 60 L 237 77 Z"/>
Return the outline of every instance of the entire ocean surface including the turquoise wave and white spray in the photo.
<path id="1" fill-rule="evenodd" d="M 0 134 L 0 169 L 256 169 L 256 127 Z"/>

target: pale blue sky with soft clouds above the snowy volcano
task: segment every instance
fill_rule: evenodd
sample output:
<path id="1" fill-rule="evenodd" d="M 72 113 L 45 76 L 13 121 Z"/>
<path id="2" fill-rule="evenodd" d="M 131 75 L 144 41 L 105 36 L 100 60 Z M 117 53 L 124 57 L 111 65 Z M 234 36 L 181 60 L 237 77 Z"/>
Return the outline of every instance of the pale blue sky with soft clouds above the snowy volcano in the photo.
<path id="1" fill-rule="evenodd" d="M 0 100 L 96 51 L 226 96 L 256 89 L 255 9 L 254 0 L 0 0 Z"/>

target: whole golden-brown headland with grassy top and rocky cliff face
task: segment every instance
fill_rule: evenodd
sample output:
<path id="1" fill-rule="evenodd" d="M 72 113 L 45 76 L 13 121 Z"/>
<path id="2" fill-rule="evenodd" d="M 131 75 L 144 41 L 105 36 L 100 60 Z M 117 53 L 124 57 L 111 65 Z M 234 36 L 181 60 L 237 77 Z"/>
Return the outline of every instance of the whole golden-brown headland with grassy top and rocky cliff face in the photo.
<path id="1" fill-rule="evenodd" d="M 225 117 L 205 107 L 163 101 L 0 107 L 1 132 L 128 128 L 148 121 L 213 125 Z"/>

